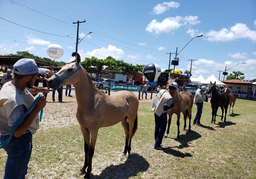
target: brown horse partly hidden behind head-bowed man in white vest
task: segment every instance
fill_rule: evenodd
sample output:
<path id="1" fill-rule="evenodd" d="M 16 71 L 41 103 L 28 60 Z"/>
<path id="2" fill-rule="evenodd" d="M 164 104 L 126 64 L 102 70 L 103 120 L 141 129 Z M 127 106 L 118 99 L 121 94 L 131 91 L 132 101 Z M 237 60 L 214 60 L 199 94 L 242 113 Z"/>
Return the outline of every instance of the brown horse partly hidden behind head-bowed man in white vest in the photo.
<path id="1" fill-rule="evenodd" d="M 167 82 L 168 86 L 173 80 L 169 80 Z M 184 128 L 186 128 L 186 120 L 187 117 L 189 117 L 189 122 L 191 122 L 191 115 L 192 115 L 192 107 L 193 107 L 193 102 L 194 98 L 193 95 L 188 92 L 188 91 L 181 91 L 180 93 L 177 92 L 177 90 L 174 90 L 171 93 L 172 96 L 172 101 L 175 103 L 178 103 L 178 105 L 175 105 L 168 111 L 169 119 L 168 119 L 168 128 L 165 137 L 168 136 L 169 131 L 170 131 L 170 125 L 172 121 L 172 115 L 173 113 L 177 115 L 177 127 L 178 127 L 178 132 L 177 132 L 177 138 L 180 138 L 180 117 L 181 117 L 181 112 L 184 117 Z M 189 123 L 189 132 L 191 132 L 191 124 Z"/>

